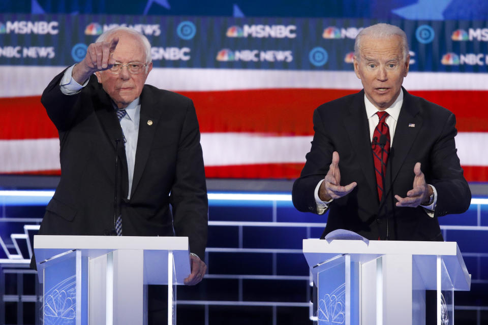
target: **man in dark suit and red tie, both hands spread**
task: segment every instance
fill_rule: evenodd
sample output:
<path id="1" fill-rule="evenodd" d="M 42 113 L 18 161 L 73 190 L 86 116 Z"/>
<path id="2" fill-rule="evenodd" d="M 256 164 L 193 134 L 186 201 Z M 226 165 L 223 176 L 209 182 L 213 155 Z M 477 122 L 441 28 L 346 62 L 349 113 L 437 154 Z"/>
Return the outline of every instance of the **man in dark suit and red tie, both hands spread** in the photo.
<path id="1" fill-rule="evenodd" d="M 455 117 L 402 87 L 410 59 L 403 30 L 370 26 L 354 49 L 364 89 L 315 110 L 293 204 L 329 211 L 322 238 L 346 229 L 373 240 L 443 240 L 437 217 L 463 213 L 471 202 Z"/>

